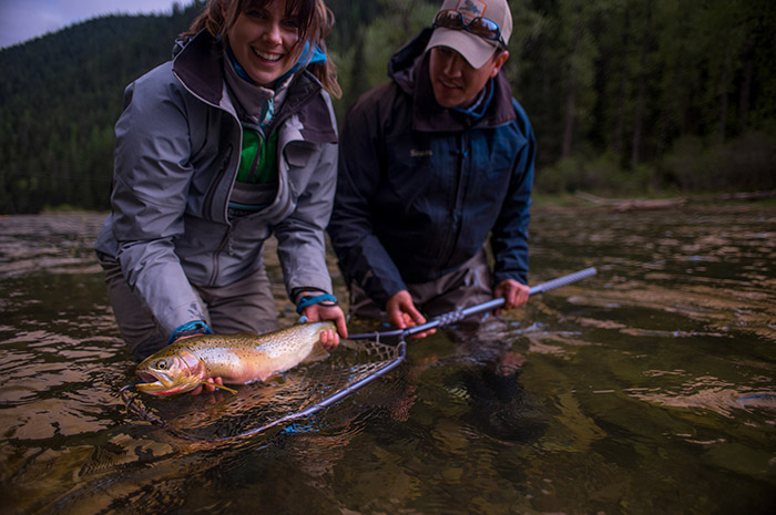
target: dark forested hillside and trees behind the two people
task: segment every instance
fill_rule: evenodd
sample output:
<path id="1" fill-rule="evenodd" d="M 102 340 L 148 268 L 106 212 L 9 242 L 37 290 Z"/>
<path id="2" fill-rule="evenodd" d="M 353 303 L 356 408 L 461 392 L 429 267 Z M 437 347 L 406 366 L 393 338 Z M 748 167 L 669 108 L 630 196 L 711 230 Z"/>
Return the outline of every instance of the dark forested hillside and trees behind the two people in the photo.
<path id="1" fill-rule="evenodd" d="M 440 1 L 328 0 L 347 107 Z M 0 51 L 0 213 L 104 209 L 124 86 L 171 56 L 203 1 L 111 16 Z M 539 141 L 535 189 L 776 188 L 776 2 L 511 0 L 507 65 Z"/>

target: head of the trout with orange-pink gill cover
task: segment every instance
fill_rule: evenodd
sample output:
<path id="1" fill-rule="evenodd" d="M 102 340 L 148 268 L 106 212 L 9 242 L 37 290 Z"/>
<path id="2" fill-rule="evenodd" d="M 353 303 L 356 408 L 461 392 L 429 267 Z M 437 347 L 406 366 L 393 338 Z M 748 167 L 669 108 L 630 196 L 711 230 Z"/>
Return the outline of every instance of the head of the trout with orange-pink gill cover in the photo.
<path id="1" fill-rule="evenodd" d="M 137 375 L 145 381 L 135 388 L 152 395 L 171 395 L 194 390 L 205 379 L 204 363 L 187 349 L 162 349 L 137 365 Z"/>

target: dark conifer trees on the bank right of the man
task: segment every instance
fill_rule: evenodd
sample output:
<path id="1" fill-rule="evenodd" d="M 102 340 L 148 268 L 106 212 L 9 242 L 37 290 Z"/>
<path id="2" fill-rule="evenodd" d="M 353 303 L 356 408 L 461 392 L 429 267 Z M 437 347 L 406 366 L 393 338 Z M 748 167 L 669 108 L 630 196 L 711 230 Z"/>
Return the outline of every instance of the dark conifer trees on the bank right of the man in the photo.
<path id="1" fill-rule="evenodd" d="M 609 175 L 623 181 L 619 189 L 627 192 L 629 181 L 649 171 L 651 187 L 700 187 L 663 163 L 674 142 L 693 136 L 702 144 L 682 158 L 715 155 L 703 161 L 711 168 L 697 175 L 723 174 L 704 187 L 772 187 L 776 161 L 768 152 L 755 152 L 766 159 L 758 161 L 765 172 L 738 183 L 725 178 L 736 174 L 723 172 L 715 159 L 733 163 L 732 151 L 724 148 L 733 141 L 754 145 L 744 135 L 776 120 L 776 40 L 768 29 L 776 24 L 776 3 L 521 0 L 511 6 L 515 34 L 524 35 L 511 45 L 520 70 L 510 70 L 510 76 L 537 132 L 540 189 L 573 190 L 583 178 Z M 617 169 L 631 172 L 603 167 L 591 177 L 588 168 L 596 161 L 590 155 L 612 156 Z"/>

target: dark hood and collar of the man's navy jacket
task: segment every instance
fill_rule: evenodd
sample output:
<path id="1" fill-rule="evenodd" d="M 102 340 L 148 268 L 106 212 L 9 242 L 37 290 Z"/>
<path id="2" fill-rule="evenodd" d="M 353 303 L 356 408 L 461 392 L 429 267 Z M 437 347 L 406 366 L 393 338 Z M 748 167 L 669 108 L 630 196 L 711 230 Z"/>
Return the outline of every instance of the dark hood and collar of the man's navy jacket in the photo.
<path id="1" fill-rule="evenodd" d="M 401 48 L 388 64 L 388 75 L 412 97 L 412 128 L 425 132 L 456 132 L 470 127 L 496 127 L 517 120 L 512 106 L 512 90 L 504 70 L 486 86 L 492 87 L 492 100 L 479 119 L 437 103 L 429 79 L 429 56 L 428 52 L 425 52 L 431 33 L 431 29 L 423 29 L 417 38 Z"/>

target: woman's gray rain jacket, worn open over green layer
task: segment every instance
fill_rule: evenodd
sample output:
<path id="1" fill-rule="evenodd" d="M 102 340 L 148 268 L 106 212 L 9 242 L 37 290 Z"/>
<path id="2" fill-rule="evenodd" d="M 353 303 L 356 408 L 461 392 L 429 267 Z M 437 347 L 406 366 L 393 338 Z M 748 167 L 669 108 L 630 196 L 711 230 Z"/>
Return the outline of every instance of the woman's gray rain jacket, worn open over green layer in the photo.
<path id="1" fill-rule="evenodd" d="M 307 71 L 275 121 L 278 190 L 229 219 L 242 126 L 223 79 L 221 42 L 202 32 L 124 92 L 108 217 L 95 249 L 119 260 L 167 333 L 204 310 L 191 285 L 226 286 L 262 267 L 275 235 L 286 290 L 331 292 L 324 229 L 331 214 L 337 132 L 328 94 Z"/>

